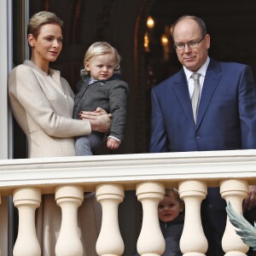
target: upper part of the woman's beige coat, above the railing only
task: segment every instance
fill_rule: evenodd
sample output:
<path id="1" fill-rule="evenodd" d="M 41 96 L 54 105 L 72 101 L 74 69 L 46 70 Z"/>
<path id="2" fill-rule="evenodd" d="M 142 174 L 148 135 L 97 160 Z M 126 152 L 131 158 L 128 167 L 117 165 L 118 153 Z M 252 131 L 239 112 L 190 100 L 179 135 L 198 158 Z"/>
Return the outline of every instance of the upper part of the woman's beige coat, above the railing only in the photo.
<path id="1" fill-rule="evenodd" d="M 50 69 L 48 75 L 32 61 L 9 74 L 9 101 L 30 158 L 75 155 L 73 137 L 89 135 L 90 123 L 72 119 L 73 98 L 60 72 Z"/>

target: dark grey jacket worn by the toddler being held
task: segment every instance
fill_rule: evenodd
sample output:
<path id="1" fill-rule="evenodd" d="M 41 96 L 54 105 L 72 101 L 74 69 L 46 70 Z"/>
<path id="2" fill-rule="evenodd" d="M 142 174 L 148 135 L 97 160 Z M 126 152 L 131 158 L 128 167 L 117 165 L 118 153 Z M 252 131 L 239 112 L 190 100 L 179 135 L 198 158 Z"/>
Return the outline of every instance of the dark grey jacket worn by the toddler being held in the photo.
<path id="1" fill-rule="evenodd" d="M 124 139 L 128 84 L 114 75 L 108 80 L 99 80 L 89 85 L 86 75 L 77 84 L 78 93 L 74 100 L 73 118 L 79 119 L 80 111 L 94 111 L 100 107 L 112 113 L 109 135 Z"/>

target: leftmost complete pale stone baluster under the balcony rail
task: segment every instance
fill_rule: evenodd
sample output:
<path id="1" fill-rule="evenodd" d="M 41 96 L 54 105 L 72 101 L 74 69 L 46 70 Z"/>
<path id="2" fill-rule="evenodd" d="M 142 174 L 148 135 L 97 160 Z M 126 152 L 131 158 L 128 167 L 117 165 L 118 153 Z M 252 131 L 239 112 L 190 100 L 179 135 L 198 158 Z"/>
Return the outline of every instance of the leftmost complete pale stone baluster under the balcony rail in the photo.
<path id="1" fill-rule="evenodd" d="M 41 191 L 36 188 L 15 189 L 13 198 L 19 210 L 19 230 L 14 256 L 39 256 L 41 248 L 35 227 L 35 211 L 40 206 Z"/>

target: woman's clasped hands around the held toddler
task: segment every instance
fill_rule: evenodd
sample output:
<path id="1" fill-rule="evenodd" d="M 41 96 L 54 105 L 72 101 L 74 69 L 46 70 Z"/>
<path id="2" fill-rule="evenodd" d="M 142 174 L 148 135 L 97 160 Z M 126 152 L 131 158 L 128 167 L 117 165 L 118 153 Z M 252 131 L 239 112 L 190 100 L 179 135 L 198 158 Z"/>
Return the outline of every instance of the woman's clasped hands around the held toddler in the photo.
<path id="1" fill-rule="evenodd" d="M 92 131 L 107 132 L 111 125 L 111 113 L 107 113 L 102 108 L 96 108 L 94 112 L 82 111 L 79 113 L 79 119 L 88 119 Z"/>

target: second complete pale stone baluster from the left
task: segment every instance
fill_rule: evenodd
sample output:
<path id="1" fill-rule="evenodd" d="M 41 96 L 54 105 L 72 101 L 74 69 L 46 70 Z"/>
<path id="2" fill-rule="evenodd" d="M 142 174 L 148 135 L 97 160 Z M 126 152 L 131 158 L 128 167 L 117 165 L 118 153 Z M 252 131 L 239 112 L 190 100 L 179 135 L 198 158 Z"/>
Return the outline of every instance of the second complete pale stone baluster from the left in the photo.
<path id="1" fill-rule="evenodd" d="M 75 185 L 60 186 L 55 189 L 55 201 L 61 207 L 62 216 L 55 255 L 82 256 L 83 246 L 79 237 L 78 208 L 84 201 L 84 189 Z"/>

